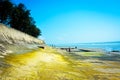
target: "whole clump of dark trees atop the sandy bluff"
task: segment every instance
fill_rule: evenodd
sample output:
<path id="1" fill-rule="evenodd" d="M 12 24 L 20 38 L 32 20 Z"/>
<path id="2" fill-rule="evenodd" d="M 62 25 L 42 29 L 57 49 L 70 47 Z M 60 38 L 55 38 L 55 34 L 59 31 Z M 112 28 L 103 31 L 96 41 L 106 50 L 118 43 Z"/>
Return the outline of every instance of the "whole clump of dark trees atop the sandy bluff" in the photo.
<path id="1" fill-rule="evenodd" d="M 25 32 L 34 37 L 41 35 L 34 19 L 24 4 L 13 4 L 10 0 L 0 0 L 0 23 Z"/>

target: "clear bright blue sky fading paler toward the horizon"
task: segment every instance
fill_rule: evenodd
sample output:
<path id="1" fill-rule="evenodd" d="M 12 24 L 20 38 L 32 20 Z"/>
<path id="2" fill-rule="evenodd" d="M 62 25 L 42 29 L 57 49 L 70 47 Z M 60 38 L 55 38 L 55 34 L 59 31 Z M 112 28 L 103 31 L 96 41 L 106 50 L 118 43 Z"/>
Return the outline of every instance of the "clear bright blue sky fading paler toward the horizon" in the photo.
<path id="1" fill-rule="evenodd" d="M 120 0 L 12 0 L 23 3 L 47 44 L 120 41 Z"/>

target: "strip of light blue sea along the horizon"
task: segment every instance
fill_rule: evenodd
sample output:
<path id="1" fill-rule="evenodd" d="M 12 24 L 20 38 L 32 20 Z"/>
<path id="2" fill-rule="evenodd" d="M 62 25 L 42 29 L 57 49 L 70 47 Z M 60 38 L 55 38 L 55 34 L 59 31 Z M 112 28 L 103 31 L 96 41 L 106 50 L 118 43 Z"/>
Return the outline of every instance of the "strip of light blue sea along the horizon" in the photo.
<path id="1" fill-rule="evenodd" d="M 69 44 L 55 44 L 54 47 L 70 47 L 70 48 L 97 48 L 107 51 L 120 51 L 120 41 L 115 42 L 93 42 L 93 43 L 69 43 Z"/>

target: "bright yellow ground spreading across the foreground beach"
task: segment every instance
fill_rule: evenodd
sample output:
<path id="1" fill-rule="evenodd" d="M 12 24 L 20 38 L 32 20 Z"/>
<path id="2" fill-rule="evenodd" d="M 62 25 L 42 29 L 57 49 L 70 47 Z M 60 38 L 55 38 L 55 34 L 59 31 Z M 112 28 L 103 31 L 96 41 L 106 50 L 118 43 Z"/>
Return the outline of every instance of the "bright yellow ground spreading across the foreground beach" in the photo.
<path id="1" fill-rule="evenodd" d="M 85 58 L 80 60 L 74 55 Z M 119 62 L 87 59 L 102 55 L 94 52 L 63 54 L 50 47 L 11 54 L 2 60 L 7 67 L 0 66 L 0 80 L 119 80 Z M 117 71 L 106 71 L 110 69 Z"/>

